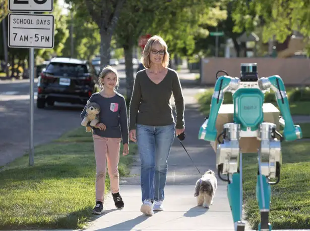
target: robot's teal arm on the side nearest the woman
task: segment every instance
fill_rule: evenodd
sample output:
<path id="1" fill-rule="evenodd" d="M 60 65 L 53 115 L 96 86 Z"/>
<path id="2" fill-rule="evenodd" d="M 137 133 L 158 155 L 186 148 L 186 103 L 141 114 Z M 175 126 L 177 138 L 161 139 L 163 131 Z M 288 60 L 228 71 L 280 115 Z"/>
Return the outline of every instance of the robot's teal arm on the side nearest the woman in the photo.
<path id="1" fill-rule="evenodd" d="M 225 91 L 232 91 L 238 88 L 239 79 L 232 78 L 230 76 L 220 76 L 214 86 L 214 93 L 211 100 L 211 109 L 209 118 L 202 125 L 204 130 L 203 135 L 200 138 L 205 141 L 215 141 L 217 136 L 217 130 L 215 127 L 216 119 L 220 106 L 224 99 Z M 200 132 L 201 133 L 201 132 Z"/>

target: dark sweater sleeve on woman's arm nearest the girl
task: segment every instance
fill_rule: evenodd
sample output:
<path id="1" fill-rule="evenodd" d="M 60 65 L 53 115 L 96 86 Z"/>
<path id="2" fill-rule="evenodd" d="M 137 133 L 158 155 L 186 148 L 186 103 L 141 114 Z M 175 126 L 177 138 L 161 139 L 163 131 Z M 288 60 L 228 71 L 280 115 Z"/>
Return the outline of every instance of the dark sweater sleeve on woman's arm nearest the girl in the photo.
<path id="1" fill-rule="evenodd" d="M 137 114 L 141 101 L 140 74 L 136 75 L 129 108 L 129 130 L 136 129 Z"/>

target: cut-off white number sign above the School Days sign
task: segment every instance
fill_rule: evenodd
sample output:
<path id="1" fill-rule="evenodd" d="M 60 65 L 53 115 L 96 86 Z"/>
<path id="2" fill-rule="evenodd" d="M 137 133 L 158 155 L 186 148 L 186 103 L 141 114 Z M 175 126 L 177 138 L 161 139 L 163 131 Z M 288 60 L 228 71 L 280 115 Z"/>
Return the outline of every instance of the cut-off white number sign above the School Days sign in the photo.
<path id="1" fill-rule="evenodd" d="M 8 5 L 9 11 L 53 11 L 53 0 L 9 0 Z"/>

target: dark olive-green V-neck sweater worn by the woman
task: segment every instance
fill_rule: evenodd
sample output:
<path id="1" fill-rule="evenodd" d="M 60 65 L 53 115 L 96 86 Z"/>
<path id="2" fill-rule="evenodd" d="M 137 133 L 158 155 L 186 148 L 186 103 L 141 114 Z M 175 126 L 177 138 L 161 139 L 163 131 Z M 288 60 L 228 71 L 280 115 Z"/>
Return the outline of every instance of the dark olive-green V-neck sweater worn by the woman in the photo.
<path id="1" fill-rule="evenodd" d="M 173 94 L 176 108 L 175 128 L 184 128 L 184 101 L 181 84 L 176 71 L 168 68 L 164 79 L 156 84 L 146 74 L 146 69 L 137 73 L 130 102 L 129 129 L 136 124 L 165 126 L 174 123 L 170 104 Z"/>

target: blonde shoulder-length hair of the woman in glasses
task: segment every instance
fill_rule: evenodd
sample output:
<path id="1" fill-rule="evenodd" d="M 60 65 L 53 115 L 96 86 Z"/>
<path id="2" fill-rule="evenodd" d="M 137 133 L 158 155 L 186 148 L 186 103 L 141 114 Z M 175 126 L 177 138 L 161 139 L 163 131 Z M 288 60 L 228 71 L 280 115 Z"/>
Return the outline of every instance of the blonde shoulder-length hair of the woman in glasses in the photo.
<path id="1" fill-rule="evenodd" d="M 158 35 L 154 35 L 152 37 L 149 38 L 149 40 L 147 41 L 145 48 L 143 50 L 143 56 L 142 56 L 142 64 L 145 68 L 150 68 L 151 67 L 151 60 L 150 60 L 150 53 L 152 51 L 152 46 L 153 44 L 158 43 L 160 44 L 164 51 L 164 58 L 162 59 L 162 66 L 167 68 L 169 65 L 169 53 L 168 53 L 168 48 L 167 48 L 167 44 L 164 41 L 164 39 L 162 39 L 162 37 L 158 36 Z"/>

